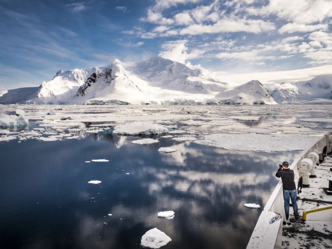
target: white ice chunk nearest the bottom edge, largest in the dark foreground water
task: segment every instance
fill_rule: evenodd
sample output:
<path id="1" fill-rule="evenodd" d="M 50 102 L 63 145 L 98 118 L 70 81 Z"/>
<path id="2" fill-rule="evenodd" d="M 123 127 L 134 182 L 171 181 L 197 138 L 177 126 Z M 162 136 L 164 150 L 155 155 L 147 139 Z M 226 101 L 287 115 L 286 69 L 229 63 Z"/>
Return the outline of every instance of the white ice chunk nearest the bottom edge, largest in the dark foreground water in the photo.
<path id="1" fill-rule="evenodd" d="M 141 245 L 149 248 L 160 248 L 167 245 L 170 241 L 172 241 L 170 237 L 155 227 L 142 236 Z"/>

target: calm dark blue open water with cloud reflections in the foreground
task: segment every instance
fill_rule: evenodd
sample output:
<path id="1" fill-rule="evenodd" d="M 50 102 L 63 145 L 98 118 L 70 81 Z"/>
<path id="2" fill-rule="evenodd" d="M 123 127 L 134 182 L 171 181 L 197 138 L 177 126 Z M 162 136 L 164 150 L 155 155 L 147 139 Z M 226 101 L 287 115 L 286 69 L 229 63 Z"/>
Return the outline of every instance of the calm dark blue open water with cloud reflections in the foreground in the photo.
<path id="1" fill-rule="evenodd" d="M 141 248 L 154 227 L 172 238 L 165 249 L 245 248 L 278 163 L 299 154 L 135 139 L 0 142 L 0 248 Z M 157 151 L 167 146 L 178 151 Z M 157 217 L 166 210 L 174 219 Z"/>

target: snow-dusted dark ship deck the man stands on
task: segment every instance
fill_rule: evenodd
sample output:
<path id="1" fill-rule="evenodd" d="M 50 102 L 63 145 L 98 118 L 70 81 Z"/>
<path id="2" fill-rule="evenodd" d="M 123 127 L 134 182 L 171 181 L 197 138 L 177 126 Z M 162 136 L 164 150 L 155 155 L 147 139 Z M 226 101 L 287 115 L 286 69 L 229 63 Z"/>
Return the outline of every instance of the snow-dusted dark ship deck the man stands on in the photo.
<path id="1" fill-rule="evenodd" d="M 332 154 L 317 166 L 316 177 L 310 178 L 309 188 L 303 188 L 298 196 L 300 219 L 294 219 L 290 207 L 290 218 L 283 225 L 282 248 L 321 249 L 332 248 L 332 209 L 310 213 L 302 220 L 304 211 L 332 206 L 332 195 L 327 195 L 323 187 L 329 186 L 332 178 Z"/>

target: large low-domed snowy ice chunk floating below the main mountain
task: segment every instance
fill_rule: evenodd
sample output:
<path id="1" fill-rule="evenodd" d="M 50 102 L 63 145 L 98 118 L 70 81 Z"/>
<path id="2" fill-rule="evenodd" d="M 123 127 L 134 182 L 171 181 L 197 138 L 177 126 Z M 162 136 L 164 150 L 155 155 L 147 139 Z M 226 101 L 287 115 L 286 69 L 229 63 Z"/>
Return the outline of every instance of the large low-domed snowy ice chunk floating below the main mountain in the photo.
<path id="1" fill-rule="evenodd" d="M 168 133 L 168 129 L 160 124 L 154 124 L 152 122 L 131 122 L 115 126 L 113 133 L 126 135 L 150 135 Z"/>

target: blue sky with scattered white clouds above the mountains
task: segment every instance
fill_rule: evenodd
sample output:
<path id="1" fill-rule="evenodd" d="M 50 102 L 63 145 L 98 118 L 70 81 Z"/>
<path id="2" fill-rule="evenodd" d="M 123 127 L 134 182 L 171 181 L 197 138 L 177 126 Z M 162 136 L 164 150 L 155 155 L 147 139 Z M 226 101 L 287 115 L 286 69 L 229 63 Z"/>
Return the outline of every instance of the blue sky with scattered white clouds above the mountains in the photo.
<path id="1" fill-rule="evenodd" d="M 0 0 L 0 91 L 152 56 L 227 83 L 310 79 L 332 72 L 331 30 L 332 0 Z"/>

